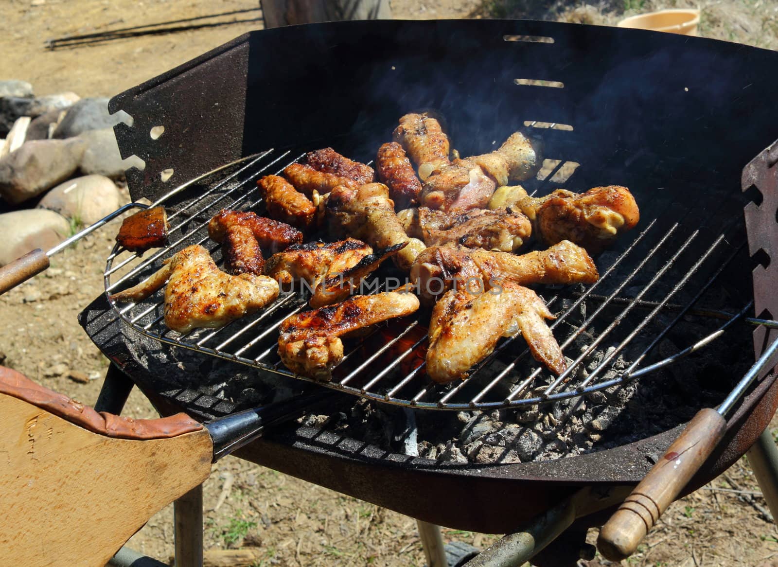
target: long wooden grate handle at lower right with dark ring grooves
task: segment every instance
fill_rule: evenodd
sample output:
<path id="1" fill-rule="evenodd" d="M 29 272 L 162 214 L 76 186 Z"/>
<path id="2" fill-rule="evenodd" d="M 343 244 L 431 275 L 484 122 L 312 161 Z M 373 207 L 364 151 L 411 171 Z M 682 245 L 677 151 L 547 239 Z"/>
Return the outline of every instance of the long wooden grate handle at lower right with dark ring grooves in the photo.
<path id="1" fill-rule="evenodd" d="M 727 422 L 706 408 L 694 416 L 667 453 L 600 530 L 597 547 L 610 561 L 632 555 L 724 436 Z"/>

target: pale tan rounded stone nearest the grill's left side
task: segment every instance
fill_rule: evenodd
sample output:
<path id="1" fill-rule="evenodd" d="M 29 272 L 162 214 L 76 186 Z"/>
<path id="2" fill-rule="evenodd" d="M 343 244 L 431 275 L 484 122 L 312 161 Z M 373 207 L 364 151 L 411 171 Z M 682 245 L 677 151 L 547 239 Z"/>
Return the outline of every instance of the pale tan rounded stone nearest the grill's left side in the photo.
<path id="1" fill-rule="evenodd" d="M 54 187 L 44 195 L 38 207 L 89 226 L 119 208 L 120 201 L 121 194 L 113 181 L 102 175 L 86 175 Z"/>

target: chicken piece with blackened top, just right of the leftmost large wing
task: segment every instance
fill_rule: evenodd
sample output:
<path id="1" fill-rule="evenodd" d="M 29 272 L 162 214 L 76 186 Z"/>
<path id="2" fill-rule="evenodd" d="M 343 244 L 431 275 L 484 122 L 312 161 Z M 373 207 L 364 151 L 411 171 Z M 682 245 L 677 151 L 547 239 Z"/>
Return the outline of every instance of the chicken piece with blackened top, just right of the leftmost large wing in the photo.
<path id="1" fill-rule="evenodd" d="M 307 282 L 312 288 L 328 274 L 340 274 L 353 268 L 373 249 L 361 240 L 348 238 L 338 242 L 307 242 L 273 254 L 265 264 L 265 275 L 282 287 Z"/>

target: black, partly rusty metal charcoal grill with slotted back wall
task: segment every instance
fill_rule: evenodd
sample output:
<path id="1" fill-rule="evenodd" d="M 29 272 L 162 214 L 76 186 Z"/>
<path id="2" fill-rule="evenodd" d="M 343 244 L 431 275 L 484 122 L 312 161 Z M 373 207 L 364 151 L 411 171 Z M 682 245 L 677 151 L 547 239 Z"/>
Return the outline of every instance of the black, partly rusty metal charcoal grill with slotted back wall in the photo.
<path id="1" fill-rule="evenodd" d="M 751 310 L 752 300 L 752 323 L 773 320 L 778 312 L 767 278 L 755 278 L 752 289 L 745 276 L 755 267 L 758 275 L 770 270 L 774 149 L 749 166 L 745 193 L 738 191 L 743 167 L 778 135 L 768 94 L 778 78 L 767 72 L 776 62 L 773 52 L 715 40 L 531 21 L 349 22 L 249 33 L 111 100 L 111 111 L 134 118 L 132 127 L 115 127 L 122 156 L 145 161 L 144 170 L 127 174 L 134 199 L 154 199 L 183 180 L 253 157 L 168 201 L 176 227 L 170 250 L 142 259 L 114 250 L 107 289 L 148 275 L 173 250 L 198 241 L 218 259 L 203 225 L 227 205 L 261 206 L 254 192 L 259 176 L 325 145 L 370 161 L 401 114 L 433 108 L 461 155 L 488 151 L 517 128 L 540 135 L 548 168 L 527 183 L 537 194 L 623 184 L 636 195 L 643 220 L 596 259 L 601 282 L 543 290 L 559 314 L 555 334 L 575 361 L 573 369 L 588 355 L 575 342 L 584 331 L 596 331 L 586 348 L 600 348 L 605 357 L 586 376 L 571 369 L 557 380 L 532 366 L 520 340 L 504 341 L 470 380 L 433 387 L 422 366 L 408 371 L 403 364 L 424 340 L 413 331 L 425 323 L 422 315 L 390 324 L 389 343 L 377 332 L 378 347 L 370 337 L 352 345 L 333 386 L 374 401 L 441 410 L 520 407 L 620 387 L 640 368 L 668 358 L 657 356 L 654 346 L 678 320 L 703 317 L 707 335 L 716 331 L 717 319 Z M 150 135 L 159 126 L 163 135 Z M 741 210 L 751 201 L 756 204 L 748 205 L 747 233 Z M 756 220 L 759 215 L 766 218 Z M 570 327 L 581 306 L 587 315 Z M 103 296 L 81 322 L 160 411 L 184 409 L 205 419 L 242 403 L 202 394 L 198 381 L 209 382 L 216 369 L 251 366 L 270 389 L 296 388 L 288 377 L 272 378 L 287 374 L 275 358 L 275 327 L 303 309 L 298 297 L 283 296 L 223 330 L 180 336 L 161 326 L 158 299 L 116 308 Z M 752 334 L 742 317 L 727 329 L 728 343 Z M 410 345 L 406 335 L 413 337 Z M 641 335 L 650 339 L 638 345 L 634 339 Z M 699 338 L 689 338 L 689 345 Z M 753 338 L 759 354 L 775 331 L 760 326 Z M 166 372 L 164 359 L 174 359 L 181 348 L 195 352 L 198 362 L 189 366 L 195 376 Z M 721 361 L 730 376 L 711 373 L 721 399 L 750 358 Z M 730 418 L 724 443 L 689 491 L 734 463 L 766 427 L 778 406 L 776 376 L 769 372 L 775 362 Z M 640 380 L 652 380 L 651 373 Z M 692 400 L 689 411 L 676 408 L 677 423 L 702 405 Z M 422 520 L 506 533 L 581 486 L 635 484 L 650 457 L 677 433 L 670 427 L 568 459 L 472 466 L 408 457 L 292 425 L 237 454 Z M 601 516 L 582 521 L 595 525 Z"/>

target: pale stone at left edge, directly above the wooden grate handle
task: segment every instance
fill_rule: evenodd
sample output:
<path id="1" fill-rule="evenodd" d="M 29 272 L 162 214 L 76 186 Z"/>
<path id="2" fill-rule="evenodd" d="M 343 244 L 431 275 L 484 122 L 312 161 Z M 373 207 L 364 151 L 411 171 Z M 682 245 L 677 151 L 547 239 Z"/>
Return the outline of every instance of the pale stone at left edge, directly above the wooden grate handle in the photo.
<path id="1" fill-rule="evenodd" d="M 68 219 L 54 211 L 29 208 L 0 215 L 0 266 L 30 250 L 48 250 L 70 233 Z"/>

